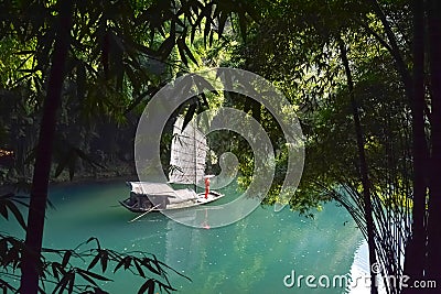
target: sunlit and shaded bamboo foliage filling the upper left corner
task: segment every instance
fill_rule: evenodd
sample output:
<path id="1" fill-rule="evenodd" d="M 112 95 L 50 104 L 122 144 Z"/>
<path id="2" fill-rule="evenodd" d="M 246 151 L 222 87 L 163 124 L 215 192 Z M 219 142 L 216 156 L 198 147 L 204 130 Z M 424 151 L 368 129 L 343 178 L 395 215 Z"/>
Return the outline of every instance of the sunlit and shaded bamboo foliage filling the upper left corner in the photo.
<path id="1" fill-rule="evenodd" d="M 2 2 L 0 8 L 8 11 L 0 22 L 3 56 L 0 122 L 4 122 L 0 126 L 11 126 L 2 130 L 4 139 L 0 146 L 10 145 L 18 155 L 14 170 L 29 181 L 33 162 L 29 155 L 36 142 L 46 95 L 60 3 L 10 1 Z M 77 159 L 96 166 L 93 141 L 100 137 L 98 131 L 103 126 L 128 126 L 133 130 L 140 110 L 159 88 L 178 73 L 203 62 L 201 56 L 205 51 L 200 44 L 197 50 L 202 52 L 196 54 L 193 42 L 212 45 L 230 32 L 228 19 L 233 20 L 234 13 L 237 13 L 235 23 L 240 23 L 245 32 L 249 15 L 257 17 L 255 11 L 249 1 L 95 1 L 94 4 L 74 1 L 72 44 L 57 126 L 64 138 L 58 137 L 56 153 L 77 154 L 64 150 L 63 143 L 67 141 L 87 155 Z M 200 98 L 202 105 L 207 105 L 204 95 Z M 20 108 L 11 109 L 18 102 Z M 190 110 L 193 112 L 195 106 Z M 21 121 L 11 121 L 10 117 Z M 26 117 L 32 121 L 24 127 Z M 20 144 L 7 139 L 18 138 L 17 133 L 25 138 Z M 130 137 L 114 137 L 111 143 L 127 141 L 126 145 L 131 145 Z M 119 151 L 114 148 L 105 153 L 114 159 L 117 152 L 125 156 L 131 153 L 128 148 Z M 58 166 L 53 171 L 55 176 L 62 167 L 69 171 L 71 177 L 83 168 L 78 160 L 56 156 L 55 161 Z"/>

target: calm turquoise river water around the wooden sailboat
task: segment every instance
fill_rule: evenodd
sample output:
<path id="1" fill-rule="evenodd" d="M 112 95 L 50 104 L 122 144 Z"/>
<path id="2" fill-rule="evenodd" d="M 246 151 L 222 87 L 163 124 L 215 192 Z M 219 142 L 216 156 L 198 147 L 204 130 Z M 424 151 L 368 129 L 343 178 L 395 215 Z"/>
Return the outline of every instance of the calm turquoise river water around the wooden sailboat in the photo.
<path id="1" fill-rule="evenodd" d="M 50 198 L 56 210 L 47 213 L 44 246 L 75 248 L 89 237 L 118 251 L 147 251 L 187 275 L 192 282 L 170 275 L 179 293 L 345 293 L 344 288 L 287 287 L 291 274 L 348 274 L 354 252 L 362 242 L 349 215 L 326 204 L 314 219 L 283 209 L 258 207 L 243 220 L 216 229 L 196 229 L 150 214 L 136 215 L 118 206 L 128 195 L 120 183 L 54 187 Z M 228 198 L 226 197 L 226 200 Z M 13 224 L 0 222 L 3 231 L 17 233 Z M 4 227 L 3 227 L 4 225 Z M 19 233 L 20 235 L 20 233 Z M 22 236 L 18 236 L 22 237 Z M 141 280 L 112 276 L 105 284 L 111 293 L 137 293 Z"/>

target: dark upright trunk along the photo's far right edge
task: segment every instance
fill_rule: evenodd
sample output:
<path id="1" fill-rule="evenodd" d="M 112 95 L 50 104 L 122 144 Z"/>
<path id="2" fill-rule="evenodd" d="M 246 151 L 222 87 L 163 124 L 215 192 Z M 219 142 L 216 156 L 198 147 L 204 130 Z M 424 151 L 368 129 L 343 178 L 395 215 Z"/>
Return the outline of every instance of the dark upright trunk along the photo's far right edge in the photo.
<path id="1" fill-rule="evenodd" d="M 429 63 L 431 77 L 431 162 L 429 177 L 427 277 L 441 285 L 441 2 L 428 1 Z"/>

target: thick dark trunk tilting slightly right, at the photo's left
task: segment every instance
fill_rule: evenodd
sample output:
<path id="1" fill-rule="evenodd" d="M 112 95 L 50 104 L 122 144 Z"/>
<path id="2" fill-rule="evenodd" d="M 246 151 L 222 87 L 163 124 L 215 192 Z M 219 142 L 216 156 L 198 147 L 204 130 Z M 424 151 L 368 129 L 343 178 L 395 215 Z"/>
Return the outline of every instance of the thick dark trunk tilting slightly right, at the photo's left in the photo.
<path id="1" fill-rule="evenodd" d="M 23 253 L 21 264 L 22 276 L 20 293 L 25 294 L 37 293 L 39 288 L 39 274 L 41 272 L 40 254 L 43 240 L 56 111 L 61 105 L 65 61 L 71 39 L 72 0 L 58 1 L 57 4 L 60 6 L 60 22 L 55 36 L 52 67 L 47 84 L 47 97 L 43 106 L 43 118 L 40 127 L 39 145 L 32 179 L 25 239 L 26 250 Z"/>

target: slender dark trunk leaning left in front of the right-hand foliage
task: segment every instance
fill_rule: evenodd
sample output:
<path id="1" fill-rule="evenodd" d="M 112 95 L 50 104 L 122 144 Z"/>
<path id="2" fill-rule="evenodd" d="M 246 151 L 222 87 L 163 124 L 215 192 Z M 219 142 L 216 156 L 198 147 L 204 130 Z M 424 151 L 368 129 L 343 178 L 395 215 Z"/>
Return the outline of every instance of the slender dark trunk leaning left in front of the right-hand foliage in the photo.
<path id="1" fill-rule="evenodd" d="M 357 102 L 355 100 L 355 95 L 354 95 L 354 81 L 352 78 L 349 63 L 347 61 L 346 47 L 340 37 L 338 37 L 338 46 L 340 46 L 342 62 L 343 62 L 345 73 L 346 73 L 347 87 L 349 90 L 351 105 L 352 105 L 352 111 L 353 111 L 353 117 L 354 117 L 355 134 L 357 138 L 359 172 L 362 174 L 362 186 L 363 186 L 363 204 L 364 204 L 364 209 L 365 209 L 365 219 L 366 219 L 366 229 L 367 229 L 367 244 L 369 248 L 369 265 L 372 269 L 372 266 L 377 263 L 377 259 L 376 259 L 376 254 L 375 254 L 376 246 L 375 246 L 375 235 L 374 235 L 374 218 L 373 218 L 372 203 L 370 203 L 370 183 L 369 183 L 369 175 L 368 175 L 368 168 L 367 168 L 367 163 L 366 163 L 365 143 L 364 143 L 364 138 L 363 138 L 362 124 L 359 121 L 358 106 L 357 106 Z M 373 273 L 373 272 L 370 272 L 370 293 L 372 294 L 378 293 L 376 276 L 375 276 L 375 273 Z"/>

